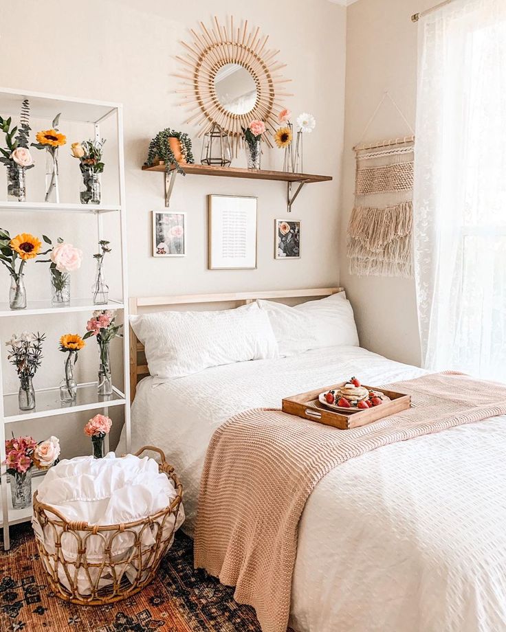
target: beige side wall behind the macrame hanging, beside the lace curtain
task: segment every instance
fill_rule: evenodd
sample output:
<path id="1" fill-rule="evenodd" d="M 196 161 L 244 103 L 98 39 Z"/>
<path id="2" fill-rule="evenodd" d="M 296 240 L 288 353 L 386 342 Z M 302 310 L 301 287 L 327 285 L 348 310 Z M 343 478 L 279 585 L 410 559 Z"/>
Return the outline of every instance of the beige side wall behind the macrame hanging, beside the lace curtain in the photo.
<path id="1" fill-rule="evenodd" d="M 346 228 L 353 208 L 358 142 L 385 90 L 415 127 L 417 25 L 411 14 L 433 0 L 359 0 L 347 10 L 346 114 L 340 212 L 340 282 L 355 308 L 362 346 L 398 361 L 419 364 L 420 348 L 412 279 L 349 275 Z M 364 142 L 408 134 L 393 106 L 384 102 Z"/>

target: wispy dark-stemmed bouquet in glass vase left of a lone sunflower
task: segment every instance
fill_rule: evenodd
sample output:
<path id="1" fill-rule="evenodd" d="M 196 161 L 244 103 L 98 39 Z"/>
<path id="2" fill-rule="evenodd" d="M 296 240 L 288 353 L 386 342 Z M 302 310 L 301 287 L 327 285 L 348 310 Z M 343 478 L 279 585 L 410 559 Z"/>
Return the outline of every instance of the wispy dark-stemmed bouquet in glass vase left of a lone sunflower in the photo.
<path id="1" fill-rule="evenodd" d="M 9 349 L 8 361 L 16 367 L 19 377 L 19 409 L 35 408 L 35 391 L 32 379 L 42 364 L 42 343 L 45 335 L 23 331 L 20 336 L 12 334 L 5 345 Z"/>

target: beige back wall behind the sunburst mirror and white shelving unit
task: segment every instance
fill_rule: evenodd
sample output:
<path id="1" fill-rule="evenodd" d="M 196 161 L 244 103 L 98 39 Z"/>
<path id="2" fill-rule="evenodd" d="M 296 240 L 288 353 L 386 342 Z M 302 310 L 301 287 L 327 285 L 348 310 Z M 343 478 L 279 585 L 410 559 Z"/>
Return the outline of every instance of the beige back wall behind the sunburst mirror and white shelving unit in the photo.
<path id="1" fill-rule="evenodd" d="M 174 57 L 183 51 L 179 42 L 188 40 L 188 29 L 196 27 L 197 21 L 208 23 L 214 15 L 223 20 L 230 14 L 236 23 L 248 19 L 250 24 L 261 27 L 263 33 L 270 35 L 270 47 L 280 50 L 279 58 L 287 64 L 285 76 L 292 79 L 289 91 L 294 93 L 286 99 L 287 106 L 296 114 L 311 112 L 317 120 L 316 130 L 305 142 L 305 168 L 309 172 L 331 174 L 334 179 L 331 183 L 308 185 L 294 204 L 292 216 L 302 221 L 303 254 L 300 260 L 290 262 L 274 260 L 274 218 L 287 217 L 283 183 L 178 177 L 171 209 L 188 214 L 188 256 L 155 259 L 151 256 L 151 210 L 164 208 L 163 177 L 144 173 L 140 166 L 151 137 L 162 128 L 186 129 L 195 139 L 196 129 L 184 125 L 186 111 L 179 105 L 179 95 L 175 93 L 180 84 L 173 76 L 178 70 Z M 151 0 L 146 4 L 138 0 L 85 3 L 3 0 L 0 4 L 0 86 L 124 104 L 131 295 L 327 286 L 336 284 L 339 276 L 337 243 L 345 40 L 346 9 L 328 0 L 257 0 L 254 3 Z M 34 131 L 39 124 L 33 122 Z M 78 131 L 70 127 L 62 131 L 67 131 L 69 139 L 78 135 Z M 112 149 L 110 145 L 107 147 L 108 151 Z M 198 159 L 201 142 L 197 139 L 194 151 Z M 36 158 L 37 169 L 29 172 L 29 194 L 34 194 L 36 189 L 43 191 L 44 161 L 39 153 Z M 61 171 L 68 174 L 65 186 L 71 197 L 72 190 L 77 196 L 78 169 L 68 157 L 65 161 L 62 157 Z M 280 150 L 269 150 L 263 159 L 265 168 L 281 168 L 282 163 Z M 243 156 L 234 164 L 245 166 Z M 107 180 L 108 168 L 112 169 L 110 163 L 104 180 Z M 3 166 L 0 174 L 3 178 L 0 179 L 0 199 L 5 199 Z M 61 179 L 64 179 L 63 174 Z M 210 193 L 258 196 L 257 270 L 207 269 L 206 196 Z M 36 234 L 47 232 L 52 236 L 61 234 L 88 254 L 95 251 L 93 232 L 86 223 L 28 215 L 3 216 L 2 222 L 1 225 L 14 234 L 21 230 L 32 230 Z M 118 232 L 113 227 L 110 236 L 117 253 Z M 89 293 L 92 275 L 92 261 L 87 260 L 83 269 L 74 275 L 74 295 Z M 29 267 L 27 277 L 30 296 L 47 297 L 47 269 Z M 3 279 L 2 301 L 8 293 L 8 276 L 3 273 L 0 279 Z M 12 330 L 21 326 L 19 321 L 10 320 L 9 335 L 11 326 Z M 52 317 L 37 323 L 25 320 L 23 326 L 39 326 L 51 336 L 43 370 L 36 376 L 36 387 L 58 383 L 63 371 L 63 354 L 57 350 L 57 335 L 61 335 L 64 328 L 82 330 L 82 319 L 59 320 L 58 323 Z M 3 335 L 4 328 L 0 331 Z M 3 339 L 0 343 L 3 347 Z M 95 368 L 96 349 L 83 351 L 78 364 L 80 379 L 93 379 Z M 9 389 L 13 390 L 16 379 L 13 368 L 5 363 L 5 354 L 3 371 Z M 59 436 L 68 436 L 69 427 L 72 426 L 63 418 L 55 425 L 41 420 L 36 434 L 39 437 L 55 431 Z M 35 431 L 34 424 L 31 429 Z M 22 430 L 28 431 L 27 428 Z M 80 431 L 77 436 L 80 437 Z M 68 438 L 66 445 L 71 453 L 76 453 L 84 441 L 85 438 Z"/>

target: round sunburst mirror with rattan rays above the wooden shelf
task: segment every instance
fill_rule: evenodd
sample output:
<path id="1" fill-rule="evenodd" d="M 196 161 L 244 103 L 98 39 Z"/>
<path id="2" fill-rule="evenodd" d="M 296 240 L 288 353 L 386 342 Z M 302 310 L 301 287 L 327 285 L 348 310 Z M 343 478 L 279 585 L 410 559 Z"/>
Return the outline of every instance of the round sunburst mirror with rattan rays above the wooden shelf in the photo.
<path id="1" fill-rule="evenodd" d="M 280 98 L 290 96 L 282 90 L 281 69 L 285 64 L 276 60 L 279 51 L 267 49 L 269 36 L 260 28 L 251 28 L 248 21 L 234 26 L 231 17 L 221 25 L 216 17 L 208 28 L 200 22 L 200 32 L 190 29 L 192 43 L 181 42 L 184 56 L 177 56 L 183 71 L 177 76 L 184 80 L 184 104 L 190 109 L 187 124 L 201 126 L 199 136 L 214 123 L 230 135 L 237 153 L 241 142 L 241 127 L 255 119 L 265 122 L 274 131 L 276 114 L 283 107 Z M 265 142 L 272 146 L 272 135 Z"/>

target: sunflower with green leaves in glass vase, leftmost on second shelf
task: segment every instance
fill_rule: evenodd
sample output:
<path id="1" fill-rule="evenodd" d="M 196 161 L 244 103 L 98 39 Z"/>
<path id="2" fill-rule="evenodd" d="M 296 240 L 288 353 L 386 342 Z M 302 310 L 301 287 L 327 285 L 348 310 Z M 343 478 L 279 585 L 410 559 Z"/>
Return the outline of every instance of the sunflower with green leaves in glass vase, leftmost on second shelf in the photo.
<path id="1" fill-rule="evenodd" d="M 10 274 L 9 306 L 11 309 L 26 307 L 25 263 L 36 258 L 40 253 L 42 242 L 28 233 L 21 233 L 10 238 L 7 230 L 0 228 L 0 262 Z M 17 266 L 19 262 L 19 266 Z"/>

